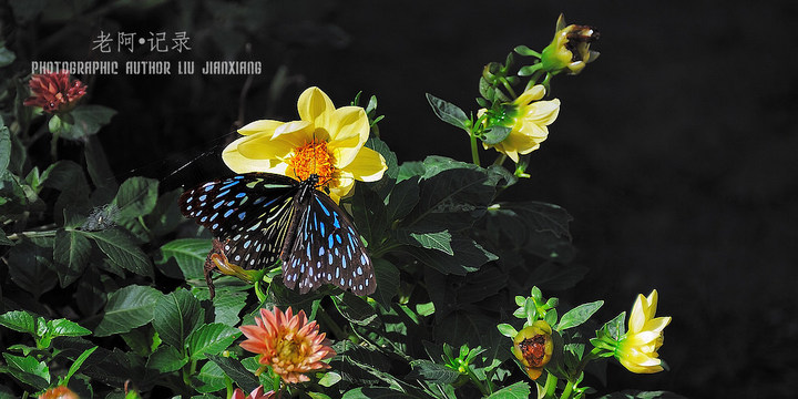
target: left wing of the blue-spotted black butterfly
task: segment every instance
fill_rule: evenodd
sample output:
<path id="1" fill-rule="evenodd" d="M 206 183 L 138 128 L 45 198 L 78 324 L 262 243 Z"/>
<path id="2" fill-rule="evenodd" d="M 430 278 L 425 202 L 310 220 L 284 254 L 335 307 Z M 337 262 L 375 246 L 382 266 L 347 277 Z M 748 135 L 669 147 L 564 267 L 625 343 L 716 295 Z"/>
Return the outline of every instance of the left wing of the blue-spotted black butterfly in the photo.
<path id="1" fill-rule="evenodd" d="M 247 173 L 186 191 L 180 207 L 224 243 L 229 263 L 257 269 L 278 259 L 298 191 L 290 177 Z"/>

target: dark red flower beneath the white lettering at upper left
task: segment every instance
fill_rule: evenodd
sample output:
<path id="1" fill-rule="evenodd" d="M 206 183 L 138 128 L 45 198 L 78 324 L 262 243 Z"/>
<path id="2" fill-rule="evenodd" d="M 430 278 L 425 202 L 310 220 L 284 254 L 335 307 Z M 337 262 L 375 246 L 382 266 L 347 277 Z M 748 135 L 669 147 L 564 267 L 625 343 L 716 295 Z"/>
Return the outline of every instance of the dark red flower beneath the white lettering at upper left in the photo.
<path id="1" fill-rule="evenodd" d="M 23 104 L 41 106 L 48 113 L 72 110 L 86 91 L 86 85 L 79 80 L 70 83 L 68 71 L 34 74 L 29 85 L 32 95 Z"/>

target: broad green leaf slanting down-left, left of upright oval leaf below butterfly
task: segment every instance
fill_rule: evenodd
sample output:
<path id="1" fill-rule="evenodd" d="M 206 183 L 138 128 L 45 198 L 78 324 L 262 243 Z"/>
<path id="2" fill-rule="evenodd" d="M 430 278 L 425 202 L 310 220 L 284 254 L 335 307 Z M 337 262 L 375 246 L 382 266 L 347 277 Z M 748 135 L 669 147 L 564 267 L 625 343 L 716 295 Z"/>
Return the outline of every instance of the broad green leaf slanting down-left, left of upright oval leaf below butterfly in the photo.
<path id="1" fill-rule="evenodd" d="M 94 336 L 108 337 L 141 327 L 153 319 L 153 307 L 163 294 L 153 287 L 130 285 L 111 293 Z"/>

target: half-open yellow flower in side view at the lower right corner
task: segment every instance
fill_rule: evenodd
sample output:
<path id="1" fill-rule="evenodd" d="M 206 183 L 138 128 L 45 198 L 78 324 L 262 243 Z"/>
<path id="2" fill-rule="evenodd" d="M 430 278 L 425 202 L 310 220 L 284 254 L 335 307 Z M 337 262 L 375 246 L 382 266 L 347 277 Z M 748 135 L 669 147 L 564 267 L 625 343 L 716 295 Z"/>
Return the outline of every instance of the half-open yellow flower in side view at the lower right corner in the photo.
<path id="1" fill-rule="evenodd" d="M 663 370 L 657 349 L 663 345 L 663 330 L 671 317 L 654 317 L 657 291 L 648 297 L 640 294 L 630 314 L 628 330 L 615 348 L 615 358 L 627 370 L 636 374 L 652 374 Z"/>

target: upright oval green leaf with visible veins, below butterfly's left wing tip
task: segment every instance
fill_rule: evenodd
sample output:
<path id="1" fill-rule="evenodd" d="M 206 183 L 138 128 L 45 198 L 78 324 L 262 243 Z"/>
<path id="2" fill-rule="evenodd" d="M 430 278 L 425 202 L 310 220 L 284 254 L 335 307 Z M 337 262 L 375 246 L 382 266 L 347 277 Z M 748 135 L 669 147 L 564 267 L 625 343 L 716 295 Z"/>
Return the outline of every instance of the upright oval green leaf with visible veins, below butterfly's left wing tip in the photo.
<path id="1" fill-rule="evenodd" d="M 177 349 L 183 349 L 202 320 L 200 300 L 185 289 L 164 295 L 155 303 L 153 327 L 164 342 Z"/>

